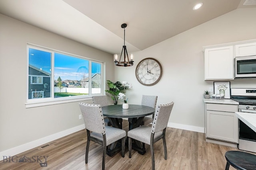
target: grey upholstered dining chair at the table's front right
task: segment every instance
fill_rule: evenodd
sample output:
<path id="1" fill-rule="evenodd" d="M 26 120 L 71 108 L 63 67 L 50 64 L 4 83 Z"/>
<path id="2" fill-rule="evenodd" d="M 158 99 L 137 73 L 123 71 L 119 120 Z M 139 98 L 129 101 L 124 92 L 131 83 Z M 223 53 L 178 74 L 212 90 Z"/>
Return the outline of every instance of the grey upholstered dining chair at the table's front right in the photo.
<path id="1" fill-rule="evenodd" d="M 155 169 L 155 158 L 154 158 L 154 143 L 163 139 L 164 143 L 164 159 L 167 160 L 167 148 L 165 132 L 172 111 L 174 102 L 170 104 L 159 105 L 154 116 L 152 127 L 142 125 L 135 129 L 128 131 L 128 148 L 129 158 L 132 157 L 132 139 L 146 143 L 150 145 L 152 170 Z"/>

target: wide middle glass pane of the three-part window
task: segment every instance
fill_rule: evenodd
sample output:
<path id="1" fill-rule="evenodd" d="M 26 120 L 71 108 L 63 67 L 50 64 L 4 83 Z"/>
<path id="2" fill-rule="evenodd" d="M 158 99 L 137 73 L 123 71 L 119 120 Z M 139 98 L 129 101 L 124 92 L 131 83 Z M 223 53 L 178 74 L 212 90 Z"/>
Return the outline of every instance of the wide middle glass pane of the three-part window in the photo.
<path id="1" fill-rule="evenodd" d="M 88 95 L 89 61 L 54 53 L 54 98 Z"/>

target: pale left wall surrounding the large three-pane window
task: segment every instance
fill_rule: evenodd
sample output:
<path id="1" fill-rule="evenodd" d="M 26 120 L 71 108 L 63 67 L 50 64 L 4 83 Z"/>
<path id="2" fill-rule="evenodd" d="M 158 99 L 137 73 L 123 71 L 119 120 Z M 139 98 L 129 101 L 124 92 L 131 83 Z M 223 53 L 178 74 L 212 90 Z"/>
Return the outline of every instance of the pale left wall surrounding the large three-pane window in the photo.
<path id="1" fill-rule="evenodd" d="M 84 124 L 79 102 L 25 107 L 26 43 L 106 62 L 106 79 L 114 78 L 112 55 L 0 14 L 0 153 Z"/>

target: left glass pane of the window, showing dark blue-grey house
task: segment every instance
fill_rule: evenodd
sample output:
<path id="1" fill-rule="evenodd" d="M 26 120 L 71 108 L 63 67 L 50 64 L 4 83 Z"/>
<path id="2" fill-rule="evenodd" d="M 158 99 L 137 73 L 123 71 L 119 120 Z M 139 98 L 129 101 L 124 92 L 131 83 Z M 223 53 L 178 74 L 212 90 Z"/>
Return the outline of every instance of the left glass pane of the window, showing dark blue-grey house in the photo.
<path id="1" fill-rule="evenodd" d="M 28 49 L 28 99 L 50 98 L 52 53 Z"/>

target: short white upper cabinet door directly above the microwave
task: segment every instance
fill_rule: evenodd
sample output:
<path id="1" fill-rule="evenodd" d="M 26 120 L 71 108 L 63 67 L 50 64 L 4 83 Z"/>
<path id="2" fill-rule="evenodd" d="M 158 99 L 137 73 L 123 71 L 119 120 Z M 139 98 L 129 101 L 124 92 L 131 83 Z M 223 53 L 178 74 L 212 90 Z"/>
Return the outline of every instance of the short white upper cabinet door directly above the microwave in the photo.
<path id="1" fill-rule="evenodd" d="M 256 43 L 235 45 L 236 57 L 256 55 Z"/>

